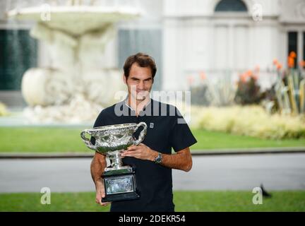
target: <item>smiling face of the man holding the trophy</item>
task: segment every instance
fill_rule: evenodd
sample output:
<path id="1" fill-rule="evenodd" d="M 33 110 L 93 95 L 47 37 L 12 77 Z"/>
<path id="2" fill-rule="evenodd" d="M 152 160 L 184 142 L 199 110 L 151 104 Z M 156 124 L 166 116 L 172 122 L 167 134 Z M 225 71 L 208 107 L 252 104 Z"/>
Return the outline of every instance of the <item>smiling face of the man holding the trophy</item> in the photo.
<path id="1" fill-rule="evenodd" d="M 128 78 L 123 77 L 128 87 L 128 95 L 131 95 L 133 100 L 145 100 L 149 97 L 153 83 L 150 67 L 143 68 L 135 63 L 131 66 Z"/>

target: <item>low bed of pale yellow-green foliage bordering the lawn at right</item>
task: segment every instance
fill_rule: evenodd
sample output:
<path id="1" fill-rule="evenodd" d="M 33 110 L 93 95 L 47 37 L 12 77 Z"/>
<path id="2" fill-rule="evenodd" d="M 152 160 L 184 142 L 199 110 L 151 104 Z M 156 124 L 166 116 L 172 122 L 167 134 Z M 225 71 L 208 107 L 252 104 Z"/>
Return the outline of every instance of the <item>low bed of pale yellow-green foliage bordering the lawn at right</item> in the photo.
<path id="1" fill-rule="evenodd" d="M 192 119 L 198 129 L 258 138 L 305 138 L 305 118 L 268 114 L 261 106 L 197 107 Z"/>

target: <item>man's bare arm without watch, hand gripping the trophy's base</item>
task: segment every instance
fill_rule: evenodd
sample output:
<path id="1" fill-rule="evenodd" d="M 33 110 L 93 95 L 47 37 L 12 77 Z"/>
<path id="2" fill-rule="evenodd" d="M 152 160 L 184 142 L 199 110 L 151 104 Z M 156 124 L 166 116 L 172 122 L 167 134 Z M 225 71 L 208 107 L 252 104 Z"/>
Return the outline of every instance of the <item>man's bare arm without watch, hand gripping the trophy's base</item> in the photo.
<path id="1" fill-rule="evenodd" d="M 91 162 L 90 171 L 96 189 L 95 202 L 99 203 L 101 206 L 107 206 L 108 204 L 102 203 L 102 198 L 104 198 L 105 195 L 102 173 L 104 172 L 105 167 L 107 167 L 106 157 L 96 152 Z"/>

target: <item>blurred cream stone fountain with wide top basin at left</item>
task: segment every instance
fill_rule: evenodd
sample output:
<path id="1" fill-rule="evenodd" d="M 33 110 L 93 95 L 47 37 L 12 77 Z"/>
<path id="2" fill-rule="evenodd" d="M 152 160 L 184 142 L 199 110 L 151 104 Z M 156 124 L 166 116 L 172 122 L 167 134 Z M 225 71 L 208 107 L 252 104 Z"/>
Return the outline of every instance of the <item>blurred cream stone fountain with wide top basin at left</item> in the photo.
<path id="1" fill-rule="evenodd" d="M 76 3 L 77 2 L 77 3 Z M 22 93 L 33 123 L 83 123 L 94 120 L 104 107 L 125 90 L 118 69 L 107 69 L 104 48 L 115 36 L 114 24 L 140 15 L 138 8 L 102 6 L 92 1 L 68 1 L 15 8 L 8 18 L 34 20 L 30 35 L 47 46 L 47 68 L 29 69 L 23 75 Z"/>

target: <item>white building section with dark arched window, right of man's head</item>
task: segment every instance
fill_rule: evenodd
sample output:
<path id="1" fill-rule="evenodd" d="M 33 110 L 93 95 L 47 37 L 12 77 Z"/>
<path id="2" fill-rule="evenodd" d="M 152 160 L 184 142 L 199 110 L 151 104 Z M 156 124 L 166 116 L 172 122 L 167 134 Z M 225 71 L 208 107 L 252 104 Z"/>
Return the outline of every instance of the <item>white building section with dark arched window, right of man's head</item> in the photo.
<path id="1" fill-rule="evenodd" d="M 167 0 L 163 23 L 165 90 L 187 90 L 190 75 L 236 78 L 256 67 L 267 82 L 273 59 L 305 57 L 304 0 Z"/>

